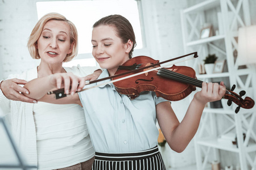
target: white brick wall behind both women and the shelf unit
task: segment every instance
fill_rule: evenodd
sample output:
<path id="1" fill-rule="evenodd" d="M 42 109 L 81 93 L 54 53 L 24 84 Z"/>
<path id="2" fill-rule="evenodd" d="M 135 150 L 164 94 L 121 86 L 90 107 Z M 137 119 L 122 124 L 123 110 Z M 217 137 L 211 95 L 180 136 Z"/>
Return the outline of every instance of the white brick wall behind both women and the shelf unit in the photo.
<path id="1" fill-rule="evenodd" d="M 151 32 L 155 32 L 151 40 L 152 57 L 163 61 L 183 52 L 180 10 L 195 5 L 203 0 L 146 0 L 147 12 L 151 23 Z M 9 74 L 20 73 L 37 65 L 27 50 L 27 40 L 37 22 L 36 0 L 0 0 L 0 79 Z M 256 24 L 256 1 L 249 0 L 252 24 Z M 149 36 L 149 35 L 148 35 Z M 172 102 L 179 120 L 184 117 L 188 107 L 187 99 Z M 195 163 L 193 142 L 187 149 L 177 154 L 166 148 L 163 151 L 167 167 L 179 167 Z"/>

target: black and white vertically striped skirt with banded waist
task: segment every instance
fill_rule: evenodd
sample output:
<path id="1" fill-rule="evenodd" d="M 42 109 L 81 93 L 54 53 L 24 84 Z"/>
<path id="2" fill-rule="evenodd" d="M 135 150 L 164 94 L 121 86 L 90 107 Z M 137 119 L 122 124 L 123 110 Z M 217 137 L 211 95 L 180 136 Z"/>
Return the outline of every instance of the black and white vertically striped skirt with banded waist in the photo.
<path id="1" fill-rule="evenodd" d="M 95 153 L 93 170 L 165 170 L 163 158 L 158 146 L 149 150 L 127 154 Z"/>

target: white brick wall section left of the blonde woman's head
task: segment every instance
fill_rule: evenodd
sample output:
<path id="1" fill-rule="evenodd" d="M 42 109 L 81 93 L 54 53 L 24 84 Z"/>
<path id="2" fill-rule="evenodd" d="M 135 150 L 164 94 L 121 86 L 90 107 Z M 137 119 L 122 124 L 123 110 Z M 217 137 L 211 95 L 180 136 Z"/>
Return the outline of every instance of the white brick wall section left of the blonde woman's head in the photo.
<path id="1" fill-rule="evenodd" d="M 0 79 L 36 65 L 27 50 L 36 22 L 35 1 L 0 1 Z"/>

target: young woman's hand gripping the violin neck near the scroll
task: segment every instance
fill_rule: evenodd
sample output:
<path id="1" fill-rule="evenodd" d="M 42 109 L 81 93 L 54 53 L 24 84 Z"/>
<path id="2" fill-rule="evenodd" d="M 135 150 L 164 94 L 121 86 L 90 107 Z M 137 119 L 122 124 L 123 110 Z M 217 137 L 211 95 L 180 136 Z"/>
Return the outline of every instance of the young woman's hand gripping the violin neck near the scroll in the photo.
<path id="1" fill-rule="evenodd" d="M 218 83 L 202 83 L 202 90 L 197 92 L 194 99 L 200 101 L 201 103 L 208 103 L 211 101 L 221 100 L 225 95 L 226 87 L 224 82 Z"/>

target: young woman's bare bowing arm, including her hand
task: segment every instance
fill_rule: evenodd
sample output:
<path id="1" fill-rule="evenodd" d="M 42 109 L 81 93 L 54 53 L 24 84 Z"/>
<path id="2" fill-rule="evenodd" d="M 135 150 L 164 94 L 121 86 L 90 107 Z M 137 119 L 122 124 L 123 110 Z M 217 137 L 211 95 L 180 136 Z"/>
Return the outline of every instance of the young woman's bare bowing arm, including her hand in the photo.
<path id="1" fill-rule="evenodd" d="M 77 86 L 78 84 L 79 86 Z M 47 103 L 81 105 L 79 96 L 75 92 L 80 91 L 84 85 L 85 78 L 80 78 L 72 73 L 57 73 L 43 78 L 36 78 L 26 83 L 24 87 L 30 91 L 30 94 L 24 95 Z M 65 88 L 65 94 L 71 95 L 58 100 L 53 95 L 46 95 L 48 91 L 61 87 Z"/>

